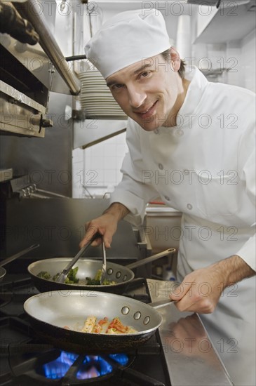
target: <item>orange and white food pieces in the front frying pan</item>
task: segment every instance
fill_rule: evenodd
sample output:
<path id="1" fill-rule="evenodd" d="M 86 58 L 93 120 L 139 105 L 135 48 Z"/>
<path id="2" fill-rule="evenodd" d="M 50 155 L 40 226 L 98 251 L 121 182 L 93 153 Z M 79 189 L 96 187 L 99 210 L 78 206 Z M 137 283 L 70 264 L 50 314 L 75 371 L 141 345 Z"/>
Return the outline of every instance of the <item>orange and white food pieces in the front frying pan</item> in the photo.
<path id="1" fill-rule="evenodd" d="M 107 317 L 97 320 L 95 316 L 90 316 L 86 319 L 83 326 L 80 328 L 79 326 L 75 326 L 74 328 L 65 326 L 64 328 L 66 328 L 67 330 L 75 330 L 83 333 L 107 333 L 107 334 L 137 333 L 137 330 L 135 330 L 135 328 L 130 326 L 125 326 L 118 317 L 109 321 Z"/>

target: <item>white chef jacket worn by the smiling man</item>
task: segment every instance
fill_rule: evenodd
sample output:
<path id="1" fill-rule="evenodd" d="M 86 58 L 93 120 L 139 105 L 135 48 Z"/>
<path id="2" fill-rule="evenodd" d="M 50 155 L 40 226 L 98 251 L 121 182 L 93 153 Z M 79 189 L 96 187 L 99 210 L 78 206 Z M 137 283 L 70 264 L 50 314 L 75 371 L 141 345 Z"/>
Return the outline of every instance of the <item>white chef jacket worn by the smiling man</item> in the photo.
<path id="1" fill-rule="evenodd" d="M 177 276 L 231 255 L 255 269 L 255 94 L 210 83 L 196 68 L 177 126 L 144 131 L 128 119 L 129 152 L 111 202 L 142 224 L 156 197 L 183 213 Z M 202 315 L 235 385 L 255 385 L 255 277 L 226 288 Z M 247 369 L 247 370 L 245 370 Z"/>

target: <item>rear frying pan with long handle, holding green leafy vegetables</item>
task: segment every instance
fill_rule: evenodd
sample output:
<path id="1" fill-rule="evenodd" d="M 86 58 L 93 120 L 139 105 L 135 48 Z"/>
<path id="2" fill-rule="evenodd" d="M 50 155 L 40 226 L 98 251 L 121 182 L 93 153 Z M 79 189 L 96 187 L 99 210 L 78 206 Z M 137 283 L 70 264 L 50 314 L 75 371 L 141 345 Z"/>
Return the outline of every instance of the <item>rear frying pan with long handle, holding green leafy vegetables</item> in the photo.
<path id="1" fill-rule="evenodd" d="M 175 248 L 170 248 L 166 251 L 157 253 L 156 255 L 149 256 L 149 258 L 138 260 L 133 264 L 126 265 L 126 267 L 123 265 L 115 264 L 114 262 L 107 262 L 107 272 L 105 278 L 107 280 L 116 282 L 116 284 L 110 285 L 88 286 L 86 284 L 86 277 L 95 277 L 98 269 L 102 268 L 101 261 L 88 258 L 80 258 L 80 260 L 76 262 L 75 267 L 79 267 L 76 274 L 76 277 L 79 279 L 79 284 L 58 283 L 57 281 L 46 280 L 37 276 L 39 272 L 46 271 L 50 274 L 51 277 L 53 277 L 58 272 L 62 272 L 62 269 L 72 260 L 72 258 L 52 258 L 39 260 L 32 262 L 32 264 L 30 264 L 27 269 L 34 281 L 36 288 L 38 288 L 41 292 L 58 291 L 60 289 L 82 289 L 120 294 L 125 291 L 127 284 L 135 277 L 132 269 L 145 265 L 154 260 L 158 260 L 159 258 L 170 255 L 171 253 L 175 253 L 175 251 Z"/>

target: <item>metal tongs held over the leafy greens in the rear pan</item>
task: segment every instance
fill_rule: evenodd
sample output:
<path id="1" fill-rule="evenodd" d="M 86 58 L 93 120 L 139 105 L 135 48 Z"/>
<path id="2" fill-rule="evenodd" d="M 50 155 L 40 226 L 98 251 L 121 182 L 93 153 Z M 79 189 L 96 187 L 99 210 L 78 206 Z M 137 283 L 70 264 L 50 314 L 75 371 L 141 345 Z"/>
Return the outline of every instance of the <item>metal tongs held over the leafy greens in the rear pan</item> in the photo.
<path id="1" fill-rule="evenodd" d="M 83 255 L 83 252 L 86 251 L 88 246 L 90 246 L 90 244 L 92 244 L 92 242 L 95 239 L 98 239 L 99 237 L 102 238 L 102 253 L 103 253 L 103 258 L 102 258 L 103 259 L 102 260 L 102 275 L 101 275 L 101 278 L 100 278 L 100 284 L 102 284 L 103 280 L 105 279 L 105 275 L 106 275 L 107 261 L 106 261 L 106 251 L 105 251 L 105 245 L 104 245 L 104 242 L 103 242 L 103 237 L 98 232 L 96 232 L 93 235 L 93 237 L 90 240 L 88 240 L 88 242 L 83 246 L 83 248 L 80 249 L 79 253 L 76 253 L 74 258 L 72 258 L 72 260 L 62 270 L 62 272 L 60 272 L 60 274 L 58 274 L 58 277 L 55 279 L 55 281 L 57 281 L 58 283 L 64 283 L 65 280 L 67 279 L 67 275 L 69 274 L 70 269 L 72 269 L 72 267 L 76 264 L 77 260 L 79 260 L 81 255 Z"/>

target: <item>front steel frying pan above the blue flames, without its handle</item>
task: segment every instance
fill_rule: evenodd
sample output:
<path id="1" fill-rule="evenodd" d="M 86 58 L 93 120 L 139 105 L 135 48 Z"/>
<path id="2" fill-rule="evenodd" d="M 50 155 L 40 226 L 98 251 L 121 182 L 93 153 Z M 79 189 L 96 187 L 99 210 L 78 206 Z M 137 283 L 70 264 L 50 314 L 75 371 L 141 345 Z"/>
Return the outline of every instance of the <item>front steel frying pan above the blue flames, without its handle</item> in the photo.
<path id="1" fill-rule="evenodd" d="M 50 291 L 26 300 L 36 333 L 62 350 L 78 354 L 128 352 L 147 341 L 162 323 L 162 317 L 150 305 L 113 293 L 97 291 Z M 72 328 L 83 326 L 89 316 L 112 320 L 135 328 L 129 334 L 83 333 Z M 68 330 L 65 326 L 71 328 Z"/>

